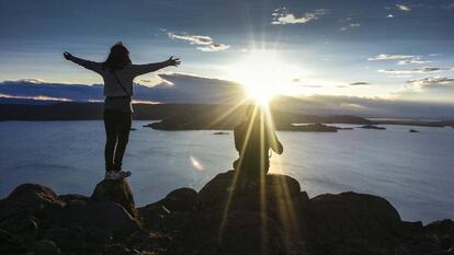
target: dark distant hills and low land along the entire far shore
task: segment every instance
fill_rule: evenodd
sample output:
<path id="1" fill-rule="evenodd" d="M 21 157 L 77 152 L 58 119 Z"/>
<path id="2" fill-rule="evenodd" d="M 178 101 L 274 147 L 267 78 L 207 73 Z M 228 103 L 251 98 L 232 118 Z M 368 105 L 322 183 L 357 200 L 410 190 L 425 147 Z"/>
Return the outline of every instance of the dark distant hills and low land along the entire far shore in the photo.
<path id="1" fill-rule="evenodd" d="M 245 106 L 227 104 L 135 104 L 134 119 L 161 119 L 158 129 L 231 129 L 242 120 Z M 102 119 L 102 103 L 0 104 L 0 120 L 90 120 Z M 352 115 L 311 115 L 272 108 L 277 129 L 287 130 L 290 124 L 357 124 L 413 125 L 454 127 L 454 120 L 368 120 Z"/>

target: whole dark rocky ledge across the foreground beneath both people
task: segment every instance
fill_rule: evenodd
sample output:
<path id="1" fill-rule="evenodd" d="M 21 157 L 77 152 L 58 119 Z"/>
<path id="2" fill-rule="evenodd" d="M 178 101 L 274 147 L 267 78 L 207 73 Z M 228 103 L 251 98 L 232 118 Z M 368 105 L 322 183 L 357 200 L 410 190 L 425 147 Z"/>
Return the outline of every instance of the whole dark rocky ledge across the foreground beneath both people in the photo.
<path id="1" fill-rule="evenodd" d="M 381 197 L 309 198 L 290 176 L 234 171 L 141 208 L 126 181 L 91 197 L 24 184 L 0 200 L 0 254 L 441 255 L 454 254 L 453 236 L 453 221 L 406 222 Z"/>

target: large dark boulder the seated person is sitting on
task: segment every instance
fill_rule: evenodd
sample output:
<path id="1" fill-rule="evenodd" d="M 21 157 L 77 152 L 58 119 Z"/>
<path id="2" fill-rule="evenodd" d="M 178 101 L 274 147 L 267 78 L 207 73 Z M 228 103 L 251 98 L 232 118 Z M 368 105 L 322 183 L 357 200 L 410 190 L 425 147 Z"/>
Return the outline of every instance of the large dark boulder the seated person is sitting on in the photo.
<path id="1" fill-rule="evenodd" d="M 306 233 L 309 198 L 299 183 L 286 175 L 268 174 L 262 179 L 228 171 L 216 175 L 198 193 L 202 209 L 222 213 L 248 210 L 265 213 L 288 235 Z"/>

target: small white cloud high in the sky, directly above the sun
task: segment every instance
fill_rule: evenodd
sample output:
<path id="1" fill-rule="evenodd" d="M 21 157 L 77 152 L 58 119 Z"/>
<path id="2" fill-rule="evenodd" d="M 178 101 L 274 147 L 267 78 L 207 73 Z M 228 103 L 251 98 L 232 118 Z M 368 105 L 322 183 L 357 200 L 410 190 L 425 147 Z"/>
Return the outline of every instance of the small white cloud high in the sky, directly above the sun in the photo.
<path id="1" fill-rule="evenodd" d="M 293 13 L 288 13 L 285 8 L 276 9 L 271 14 L 273 25 L 286 25 L 286 24 L 305 24 L 310 21 L 318 20 L 320 15 L 327 14 L 329 11 L 326 9 L 317 9 L 314 12 L 306 12 L 303 16 L 295 16 Z"/>

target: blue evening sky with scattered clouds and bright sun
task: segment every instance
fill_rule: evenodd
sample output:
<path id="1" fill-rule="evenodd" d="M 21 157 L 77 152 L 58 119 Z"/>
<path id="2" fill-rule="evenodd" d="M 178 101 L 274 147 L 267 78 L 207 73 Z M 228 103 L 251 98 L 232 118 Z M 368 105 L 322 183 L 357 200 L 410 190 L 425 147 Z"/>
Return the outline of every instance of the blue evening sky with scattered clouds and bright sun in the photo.
<path id="1" fill-rule="evenodd" d="M 136 79 L 146 86 L 177 72 L 292 96 L 454 104 L 453 28 L 454 0 L 0 0 L 0 82 L 102 83 L 61 54 L 103 61 L 122 40 L 133 62 L 181 58 Z"/>

